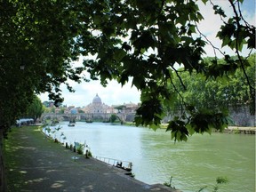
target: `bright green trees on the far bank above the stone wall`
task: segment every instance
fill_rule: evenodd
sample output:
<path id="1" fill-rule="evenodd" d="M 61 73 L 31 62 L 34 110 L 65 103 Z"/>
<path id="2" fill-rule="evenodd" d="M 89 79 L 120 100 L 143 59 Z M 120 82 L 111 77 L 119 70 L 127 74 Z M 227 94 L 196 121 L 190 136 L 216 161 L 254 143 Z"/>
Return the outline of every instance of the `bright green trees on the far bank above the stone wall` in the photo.
<path id="1" fill-rule="evenodd" d="M 256 54 L 254 53 L 248 58 L 248 66 L 245 69 L 251 84 L 255 82 L 255 57 Z M 209 62 L 212 58 L 206 58 L 205 60 Z M 253 115 L 254 97 L 250 94 L 250 87 L 244 84 L 246 79 L 241 69 L 237 69 L 234 74 L 221 78 L 206 78 L 202 74 L 189 74 L 183 68 L 180 68 L 178 72 L 183 80 L 183 85 L 180 84 L 178 76 L 173 77 L 173 84 L 170 84 L 170 89 L 173 93 L 176 91 L 180 93 L 180 97 L 173 103 L 174 105 L 167 106 L 167 108 L 170 108 L 170 112 L 182 108 L 181 103 L 188 103 L 196 108 L 211 108 L 216 111 L 247 105 Z M 174 90 L 174 87 L 176 90 Z"/>

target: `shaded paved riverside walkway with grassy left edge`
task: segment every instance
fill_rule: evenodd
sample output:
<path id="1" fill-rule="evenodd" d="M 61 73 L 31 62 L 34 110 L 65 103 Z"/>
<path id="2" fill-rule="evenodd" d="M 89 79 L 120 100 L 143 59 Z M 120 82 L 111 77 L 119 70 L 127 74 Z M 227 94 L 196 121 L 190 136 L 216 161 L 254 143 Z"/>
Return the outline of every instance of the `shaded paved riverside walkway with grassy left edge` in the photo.
<path id="1" fill-rule="evenodd" d="M 49 140 L 36 126 L 12 128 L 8 137 L 4 140 L 4 163 L 10 192 L 176 191 L 135 180 L 124 170 L 94 158 L 85 159 Z"/>

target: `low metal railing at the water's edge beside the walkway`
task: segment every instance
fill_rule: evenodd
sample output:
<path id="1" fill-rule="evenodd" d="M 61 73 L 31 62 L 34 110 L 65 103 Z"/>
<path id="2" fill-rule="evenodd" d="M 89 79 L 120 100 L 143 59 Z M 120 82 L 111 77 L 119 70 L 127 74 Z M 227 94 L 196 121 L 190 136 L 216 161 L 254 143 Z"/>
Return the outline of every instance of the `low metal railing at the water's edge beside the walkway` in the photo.
<path id="1" fill-rule="evenodd" d="M 104 157 L 104 156 L 94 156 L 94 158 L 96 158 L 106 164 L 111 164 L 113 166 L 122 168 L 126 171 L 132 171 L 132 162 L 118 160 L 118 159 L 114 159 L 114 158 L 108 158 L 108 157 Z"/>

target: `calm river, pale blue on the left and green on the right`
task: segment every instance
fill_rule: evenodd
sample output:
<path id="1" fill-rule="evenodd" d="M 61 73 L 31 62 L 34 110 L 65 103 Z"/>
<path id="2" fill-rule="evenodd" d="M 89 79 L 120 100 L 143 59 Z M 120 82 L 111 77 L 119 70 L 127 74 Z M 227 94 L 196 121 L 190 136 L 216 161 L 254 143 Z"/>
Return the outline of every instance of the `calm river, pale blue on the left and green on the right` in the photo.
<path id="1" fill-rule="evenodd" d="M 92 156 L 132 162 L 135 179 L 148 184 L 169 182 L 182 191 L 213 191 L 217 177 L 228 179 L 218 191 L 255 191 L 255 135 L 195 134 L 187 142 L 148 128 L 82 122 L 58 124 L 68 144 L 84 142 Z M 52 127 L 53 130 L 53 127 Z M 63 140 L 61 140 L 63 141 Z"/>

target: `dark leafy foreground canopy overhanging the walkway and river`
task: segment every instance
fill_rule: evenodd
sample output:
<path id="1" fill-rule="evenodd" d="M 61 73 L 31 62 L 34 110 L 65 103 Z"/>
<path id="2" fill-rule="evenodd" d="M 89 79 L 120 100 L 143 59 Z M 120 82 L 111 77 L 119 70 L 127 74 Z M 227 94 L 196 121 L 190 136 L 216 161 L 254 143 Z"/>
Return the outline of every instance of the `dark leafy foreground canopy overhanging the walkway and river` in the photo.
<path id="1" fill-rule="evenodd" d="M 106 85 L 108 80 L 126 84 L 132 78 L 132 85 L 141 91 L 136 124 L 152 128 L 160 124 L 163 106 L 179 98 L 174 76 L 182 86 L 184 83 L 183 76 L 174 68 L 177 64 L 189 76 L 195 72 L 208 79 L 241 68 L 244 84 L 250 88 L 248 94 L 254 95 L 255 88 L 245 71 L 247 59 L 241 52 L 255 49 L 255 27 L 244 20 L 243 0 L 227 1 L 232 12 L 229 16 L 219 2 L 202 2 L 211 4 L 220 16 L 223 23 L 217 38 L 222 46 L 236 53 L 236 58 L 216 48 L 201 33 L 198 25 L 204 18 L 196 0 L 3 0 L 0 5 L 1 130 L 8 129 L 26 111 L 35 93 L 49 92 L 55 105 L 61 103 L 60 84 L 73 91 L 68 79 L 76 82 L 100 79 Z M 217 61 L 216 54 L 213 60 L 205 62 L 205 44 L 212 44 L 212 49 L 224 59 Z M 84 56 L 83 66 L 74 66 L 81 56 Z M 84 76 L 84 71 L 90 76 Z M 172 94 L 173 91 L 176 93 Z M 190 116 L 186 121 L 172 121 L 169 126 L 179 140 L 186 138 L 180 135 L 198 132 L 199 127 L 214 124 L 217 129 L 223 129 L 227 123 L 225 114 L 212 110 L 206 114 L 209 118 L 203 124 L 198 117 L 204 116 L 204 111 L 196 111 L 192 104 L 183 105 L 189 106 L 186 109 Z"/>

